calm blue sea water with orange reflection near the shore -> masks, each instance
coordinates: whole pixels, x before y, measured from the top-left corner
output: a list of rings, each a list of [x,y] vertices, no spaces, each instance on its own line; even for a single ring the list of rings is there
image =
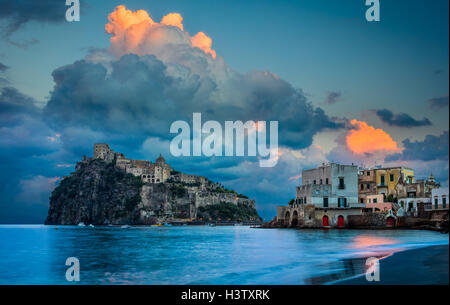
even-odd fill
[[[80,261],[80,284],[304,284],[346,274],[348,258],[449,239],[400,230],[0,225],[0,242],[0,284],[71,284],[68,257]]]

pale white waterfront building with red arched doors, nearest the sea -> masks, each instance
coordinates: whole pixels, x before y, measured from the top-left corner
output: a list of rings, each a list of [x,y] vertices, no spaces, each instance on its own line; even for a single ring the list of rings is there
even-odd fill
[[[347,216],[360,215],[358,168],[355,165],[323,164],[302,171],[296,199],[277,208],[277,219],[286,225],[344,227]]]

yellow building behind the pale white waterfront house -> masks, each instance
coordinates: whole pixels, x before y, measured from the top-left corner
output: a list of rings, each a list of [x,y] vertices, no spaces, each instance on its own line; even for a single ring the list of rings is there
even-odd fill
[[[396,187],[401,182],[415,182],[414,170],[406,167],[389,167],[376,169],[377,194],[386,196],[396,194]]]

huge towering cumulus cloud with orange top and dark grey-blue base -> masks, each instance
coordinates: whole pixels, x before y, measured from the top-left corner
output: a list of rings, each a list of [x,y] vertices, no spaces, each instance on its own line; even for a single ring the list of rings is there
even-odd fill
[[[191,121],[193,112],[203,121],[277,120],[281,145],[292,148],[311,145],[321,130],[343,127],[290,83],[268,71],[237,73],[195,47],[181,28],[177,14],[157,23],[145,11],[117,7],[106,31],[109,52],[118,57],[94,51],[56,69],[47,122],[55,129],[86,126],[168,139],[170,124]]]

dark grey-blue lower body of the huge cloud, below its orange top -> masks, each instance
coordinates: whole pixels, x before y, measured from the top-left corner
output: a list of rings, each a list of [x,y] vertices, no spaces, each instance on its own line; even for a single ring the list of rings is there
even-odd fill
[[[44,116],[56,130],[86,126],[168,139],[172,122],[190,121],[193,112],[201,112],[203,122],[277,120],[280,143],[304,148],[317,132],[342,127],[300,90],[267,72],[232,74],[219,82],[184,66],[167,66],[153,55],[125,55],[107,66],[77,61],[55,70],[53,78]]]

